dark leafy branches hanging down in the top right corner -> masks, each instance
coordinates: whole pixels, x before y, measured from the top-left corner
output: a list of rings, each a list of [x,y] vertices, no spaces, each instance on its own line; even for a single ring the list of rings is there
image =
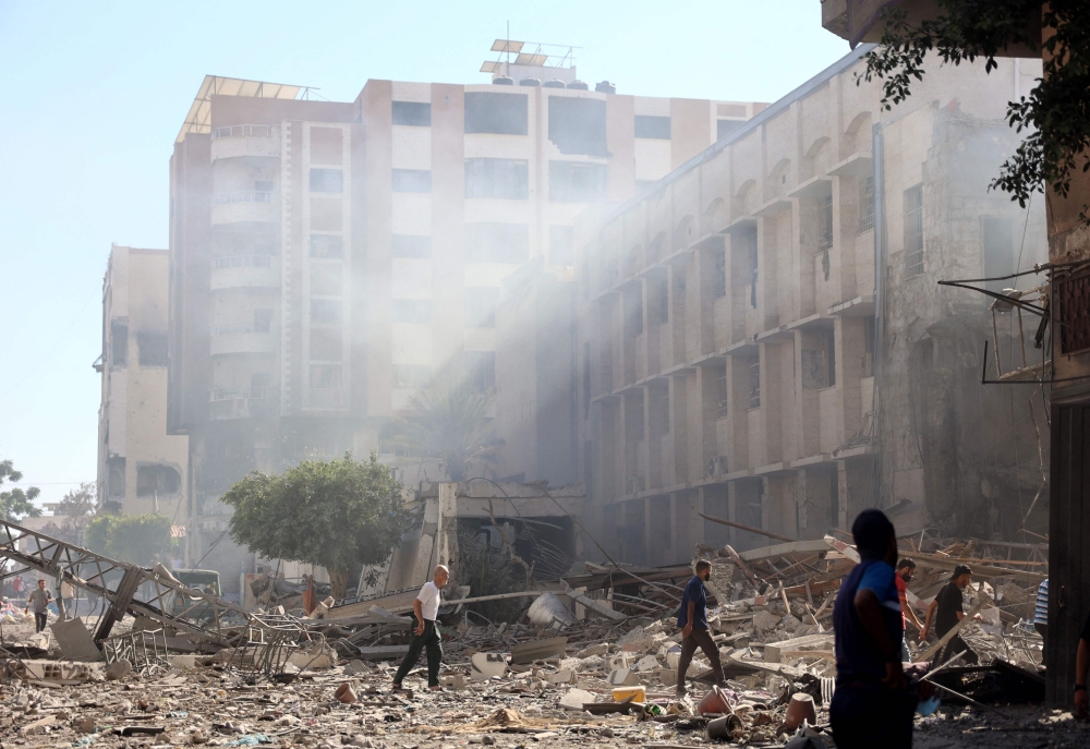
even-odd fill
[[[983,58],[991,72],[996,56],[1012,45],[1043,50],[1044,77],[1029,96],[1007,105],[1007,122],[1028,134],[991,186],[1010,193],[1022,207],[1045,183],[1066,196],[1079,165],[1090,170],[1090,3],[1053,0],[1043,12],[1039,0],[936,3],[937,15],[919,26],[907,22],[904,10],[886,11],[882,45],[867,55],[860,80],[882,78],[882,104],[889,109],[911,95],[913,80],[923,80],[931,52],[955,65]],[[1041,36],[1033,31],[1037,19]]]

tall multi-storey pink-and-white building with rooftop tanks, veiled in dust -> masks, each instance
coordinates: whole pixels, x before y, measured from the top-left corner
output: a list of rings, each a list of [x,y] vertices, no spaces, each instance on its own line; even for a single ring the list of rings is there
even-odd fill
[[[171,158],[167,431],[190,438],[191,551],[229,592],[255,563],[222,533],[232,483],[382,447],[440,372],[501,390],[502,279],[532,258],[570,268],[579,213],[762,108],[591,90],[529,62],[481,85],[368,81],[352,102],[202,84]]]

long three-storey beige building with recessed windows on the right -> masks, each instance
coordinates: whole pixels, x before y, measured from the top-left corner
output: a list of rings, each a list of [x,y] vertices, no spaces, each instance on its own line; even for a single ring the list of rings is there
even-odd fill
[[[1004,372],[1041,351],[1019,348],[1017,311],[937,281],[1047,257],[1040,203],[988,191],[1017,145],[1005,105],[1040,68],[935,69],[884,111],[857,85],[869,48],[577,225],[576,452],[616,558],[770,543],[701,512],[811,539],[879,506],[900,532],[1025,540],[1044,414],[981,373],[996,342]],[[528,271],[511,318],[561,281]]]

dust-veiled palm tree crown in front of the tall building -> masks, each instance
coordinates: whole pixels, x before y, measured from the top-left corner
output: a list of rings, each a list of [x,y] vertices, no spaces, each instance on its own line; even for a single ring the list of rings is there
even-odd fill
[[[494,395],[464,378],[436,377],[409,399],[414,413],[392,424],[392,443],[414,455],[438,458],[451,481],[465,481],[474,466],[495,467],[504,444],[489,415]]]

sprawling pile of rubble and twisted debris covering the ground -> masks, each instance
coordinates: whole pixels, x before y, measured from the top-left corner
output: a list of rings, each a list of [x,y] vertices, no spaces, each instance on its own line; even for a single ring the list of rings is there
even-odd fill
[[[610,561],[579,563],[536,590],[473,597],[468,587],[455,589],[440,609],[447,691],[407,698],[389,686],[408,650],[404,614],[416,589],[326,599],[308,613],[281,605],[246,612],[186,588],[161,566],[144,569],[0,523],[0,557],[105,601],[94,631],[80,618],[51,625],[56,647],[40,636],[4,640],[8,686],[0,689],[9,708],[0,711],[0,736],[166,734],[156,742],[253,746],[328,744],[339,734],[340,744],[363,747],[407,733],[419,735],[411,746],[449,735],[495,744],[496,733],[659,747],[691,746],[702,734],[746,742],[820,737],[835,689],[833,603],[859,558],[831,535],[774,540],[782,543],[698,549],[698,558],[713,560],[708,624],[725,687],[713,687],[710,664],[698,655],[688,676],[704,688],[683,699],[675,693],[676,612],[691,566]],[[930,678],[961,704],[1039,700],[1041,639],[1027,623],[1046,548],[921,536],[903,553],[919,566],[909,597],[921,614],[956,565],[970,564],[977,580],[966,591],[970,616],[955,632],[984,665],[942,664]],[[1016,554],[1025,558],[1012,559]],[[269,591],[277,581],[255,584]],[[522,619],[476,625],[465,613],[505,597],[526,601]],[[973,620],[978,613],[982,621]],[[913,645],[913,661],[930,661],[950,637]],[[65,686],[97,694],[68,697],[58,691]],[[410,746],[404,736],[397,740]]]

